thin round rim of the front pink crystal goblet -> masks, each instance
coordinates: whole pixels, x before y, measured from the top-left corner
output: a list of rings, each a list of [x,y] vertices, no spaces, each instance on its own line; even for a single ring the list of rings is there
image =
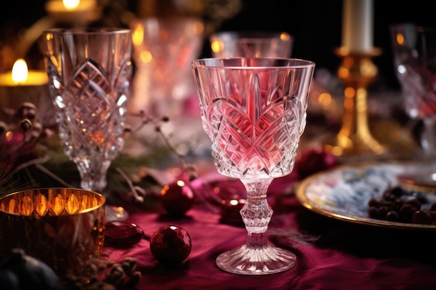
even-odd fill
[[[242,65],[222,65],[223,61],[237,61],[246,59],[247,61],[281,61],[283,63],[291,62],[293,64],[288,65],[254,65],[254,66],[242,66]],[[210,64],[205,64],[202,62],[214,62]],[[302,58],[279,58],[279,57],[230,57],[230,58],[198,58],[191,62],[192,67],[208,67],[208,68],[219,68],[219,69],[238,69],[238,70],[262,70],[265,68],[305,68],[305,67],[315,67],[316,63],[313,61],[308,61]]]

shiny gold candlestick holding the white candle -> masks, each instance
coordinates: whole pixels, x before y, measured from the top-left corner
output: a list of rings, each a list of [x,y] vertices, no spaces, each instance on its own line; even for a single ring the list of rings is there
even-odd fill
[[[338,77],[345,84],[342,127],[334,140],[326,145],[336,156],[379,155],[386,152],[368,127],[367,88],[378,74],[372,58],[381,50],[369,53],[350,53],[341,47],[336,54],[342,58]]]

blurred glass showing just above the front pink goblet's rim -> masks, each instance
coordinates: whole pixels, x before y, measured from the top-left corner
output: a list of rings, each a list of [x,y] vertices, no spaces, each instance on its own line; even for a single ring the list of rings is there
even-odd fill
[[[289,58],[293,37],[284,31],[221,31],[209,37],[212,56]]]

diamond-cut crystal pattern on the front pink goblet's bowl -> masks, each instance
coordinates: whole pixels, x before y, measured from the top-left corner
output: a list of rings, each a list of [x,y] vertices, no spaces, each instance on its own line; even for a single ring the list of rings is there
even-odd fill
[[[252,79],[258,79],[256,76]],[[258,90],[260,86],[252,88]],[[207,122],[215,165],[231,177],[279,177],[290,173],[294,165],[305,115],[302,102],[293,96],[273,96],[254,91],[254,104],[221,97],[210,103]],[[276,99],[274,99],[276,98]],[[274,99],[273,102],[269,100]]]

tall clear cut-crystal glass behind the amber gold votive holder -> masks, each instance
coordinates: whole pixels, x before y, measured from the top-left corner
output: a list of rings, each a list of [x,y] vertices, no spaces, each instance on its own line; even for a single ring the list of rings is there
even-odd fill
[[[64,152],[77,165],[81,188],[101,192],[124,145],[131,31],[50,29],[42,44]]]

